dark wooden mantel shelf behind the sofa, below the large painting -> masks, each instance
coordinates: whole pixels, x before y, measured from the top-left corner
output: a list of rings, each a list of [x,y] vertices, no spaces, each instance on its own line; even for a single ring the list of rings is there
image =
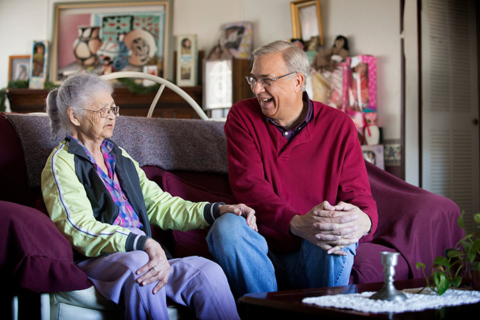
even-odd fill
[[[200,106],[202,105],[202,86],[183,87]],[[148,109],[157,92],[140,95],[131,93],[128,88],[115,87],[113,99],[120,106],[121,115],[147,116]],[[10,109],[17,113],[45,111],[48,91],[42,89],[8,89],[7,97]],[[165,88],[153,115],[154,118],[200,118],[193,108],[177,93]]]

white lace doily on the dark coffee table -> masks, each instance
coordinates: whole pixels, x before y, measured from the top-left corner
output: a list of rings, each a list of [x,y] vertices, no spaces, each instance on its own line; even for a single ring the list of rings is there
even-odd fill
[[[337,294],[334,296],[318,296],[303,298],[303,303],[320,307],[337,307],[352,309],[360,312],[413,312],[426,309],[437,309],[454,305],[478,303],[480,291],[448,289],[445,294],[438,296],[431,289],[426,288],[417,294],[421,288],[401,290],[408,298],[406,301],[382,301],[369,299],[376,292],[362,292],[361,294]]]

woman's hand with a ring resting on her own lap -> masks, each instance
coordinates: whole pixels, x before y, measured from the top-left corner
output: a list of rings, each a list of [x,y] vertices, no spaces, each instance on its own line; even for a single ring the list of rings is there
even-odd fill
[[[137,282],[145,286],[158,281],[159,283],[153,288],[153,294],[157,294],[168,282],[168,276],[171,272],[170,264],[160,243],[154,239],[147,239],[145,252],[150,257],[150,261],[136,271],[136,274],[142,275],[137,279]]]

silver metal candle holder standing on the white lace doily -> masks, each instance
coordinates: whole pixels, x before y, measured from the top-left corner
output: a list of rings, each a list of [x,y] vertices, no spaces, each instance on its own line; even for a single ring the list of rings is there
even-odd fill
[[[407,296],[402,291],[397,290],[393,284],[393,276],[395,275],[395,266],[399,262],[399,253],[381,252],[383,275],[385,275],[385,283],[376,294],[371,296],[374,300],[386,301],[403,301]]]

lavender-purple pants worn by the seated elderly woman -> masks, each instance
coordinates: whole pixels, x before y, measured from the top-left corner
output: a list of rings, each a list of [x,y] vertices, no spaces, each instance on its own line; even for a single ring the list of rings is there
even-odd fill
[[[125,319],[168,319],[167,298],[186,305],[198,319],[239,319],[227,278],[218,264],[202,257],[169,260],[172,272],[157,294],[143,287],[136,271],[150,260],[144,251],[113,253],[79,262],[102,296],[125,310]]]

